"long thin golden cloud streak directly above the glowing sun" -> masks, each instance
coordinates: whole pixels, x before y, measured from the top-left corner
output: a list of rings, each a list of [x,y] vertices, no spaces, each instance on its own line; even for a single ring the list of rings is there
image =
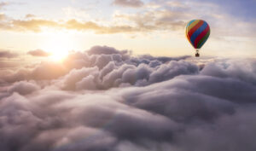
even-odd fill
[[[97,34],[113,34],[113,33],[129,33],[141,31],[138,27],[129,25],[120,26],[102,26],[99,23],[92,21],[67,20],[4,20],[0,26],[2,29],[15,32],[42,32],[45,27],[54,29],[68,29],[77,31],[93,31]]]

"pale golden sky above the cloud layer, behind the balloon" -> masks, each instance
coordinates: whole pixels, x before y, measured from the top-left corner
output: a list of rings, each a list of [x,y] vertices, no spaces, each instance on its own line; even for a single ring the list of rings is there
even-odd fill
[[[211,27],[203,55],[253,57],[255,7],[254,0],[2,1],[0,49],[60,55],[107,45],[134,55],[193,55],[184,28],[202,19]]]

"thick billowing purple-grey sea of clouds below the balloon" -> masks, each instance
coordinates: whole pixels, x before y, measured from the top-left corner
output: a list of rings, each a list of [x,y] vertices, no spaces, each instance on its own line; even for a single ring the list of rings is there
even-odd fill
[[[253,59],[95,46],[0,73],[1,151],[256,150]]]

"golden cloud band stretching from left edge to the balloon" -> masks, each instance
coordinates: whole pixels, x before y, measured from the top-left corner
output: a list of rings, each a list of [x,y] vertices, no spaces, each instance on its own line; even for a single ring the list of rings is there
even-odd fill
[[[28,14],[28,16],[31,15]],[[188,16],[188,14],[171,9],[146,9],[145,11],[140,11],[135,14],[115,13],[113,14],[113,20],[109,20],[108,24],[102,24],[100,20],[88,21],[73,19],[63,21],[26,17],[26,20],[5,18],[0,25],[4,30],[15,32],[42,32],[45,27],[48,27],[82,32],[92,31],[97,34],[137,33],[181,30],[183,26],[185,26],[184,20],[186,16]]]

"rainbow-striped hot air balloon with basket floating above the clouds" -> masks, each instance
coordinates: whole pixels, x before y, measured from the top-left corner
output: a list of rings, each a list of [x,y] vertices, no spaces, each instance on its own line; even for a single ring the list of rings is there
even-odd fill
[[[199,57],[199,49],[210,36],[210,26],[205,20],[191,20],[186,26],[186,36],[189,43],[195,48],[195,56]]]

